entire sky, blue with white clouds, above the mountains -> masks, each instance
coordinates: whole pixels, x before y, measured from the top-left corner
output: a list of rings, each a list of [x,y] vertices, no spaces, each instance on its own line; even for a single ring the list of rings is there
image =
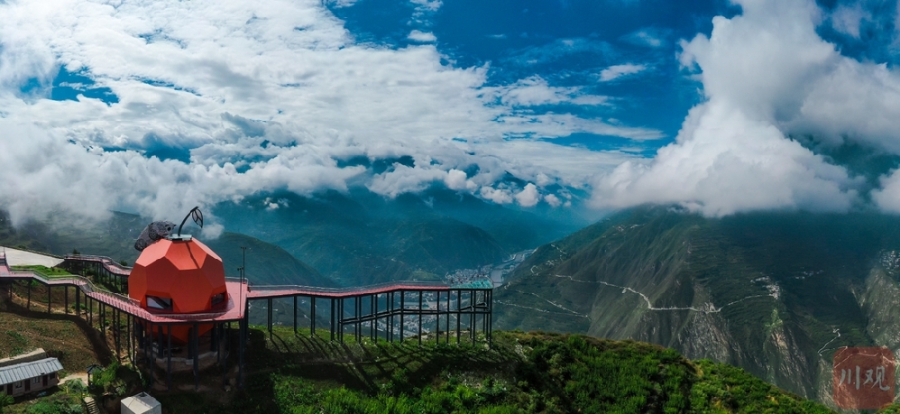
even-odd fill
[[[48,0],[0,19],[14,217],[435,185],[526,209],[900,211],[893,0]],[[68,201],[88,190],[105,197]]]

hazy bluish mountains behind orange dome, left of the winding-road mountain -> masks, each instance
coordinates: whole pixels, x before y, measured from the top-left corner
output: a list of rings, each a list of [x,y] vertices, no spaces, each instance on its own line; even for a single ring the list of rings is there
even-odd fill
[[[14,228],[0,212],[0,244],[57,254],[78,250],[133,263],[134,240],[151,221],[120,212],[100,222],[63,213]],[[185,233],[218,252],[227,275],[237,274],[244,246],[246,273],[254,282],[359,286],[438,280],[457,269],[500,262],[584,223],[580,216],[538,216],[446,189],[397,198],[351,190],[223,202],[207,211],[207,225],[225,228],[220,237],[200,233],[189,221]]]

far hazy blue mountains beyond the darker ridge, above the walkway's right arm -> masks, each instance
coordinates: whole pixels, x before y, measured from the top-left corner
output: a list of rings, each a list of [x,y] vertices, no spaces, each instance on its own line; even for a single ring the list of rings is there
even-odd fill
[[[215,211],[229,230],[278,244],[344,285],[436,279],[447,271],[499,262],[531,240],[532,246],[547,240],[529,235],[504,245],[479,226],[437,211],[440,205],[435,198],[328,192],[223,203]],[[530,228],[496,221],[495,227]]]

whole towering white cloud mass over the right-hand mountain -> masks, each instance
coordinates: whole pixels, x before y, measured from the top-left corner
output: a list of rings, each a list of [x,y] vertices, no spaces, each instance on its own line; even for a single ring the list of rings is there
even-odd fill
[[[707,216],[842,212],[863,202],[864,179],[813,150],[853,143],[900,154],[895,69],[842,56],[823,41],[813,1],[735,3],[742,14],[714,18],[710,37],[682,41],[679,59],[702,81],[705,101],[652,161],[626,161],[596,179],[595,207],[674,203]],[[856,14],[838,18],[853,32]],[[799,135],[812,137],[812,145],[791,139]],[[900,212],[896,175],[872,192],[886,211]]]

